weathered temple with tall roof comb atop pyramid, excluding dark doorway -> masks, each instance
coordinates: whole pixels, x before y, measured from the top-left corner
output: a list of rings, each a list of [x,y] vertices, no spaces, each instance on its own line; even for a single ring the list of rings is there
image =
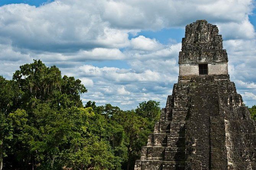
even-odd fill
[[[198,64],[208,64],[208,74],[228,74],[228,56],[218,28],[205,20],[186,26],[179,52],[179,75],[199,75]]]

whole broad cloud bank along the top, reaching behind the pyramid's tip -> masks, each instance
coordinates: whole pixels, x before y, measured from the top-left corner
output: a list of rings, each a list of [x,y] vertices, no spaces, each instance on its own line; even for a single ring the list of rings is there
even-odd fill
[[[17,47],[38,51],[123,48],[129,32],[184,27],[207,19],[254,36],[248,22],[251,0],[55,0],[39,7],[10,4],[0,7],[0,37]],[[177,10],[179,9],[179,10]],[[230,36],[228,34],[227,36]],[[235,35],[240,37],[240,35]]]

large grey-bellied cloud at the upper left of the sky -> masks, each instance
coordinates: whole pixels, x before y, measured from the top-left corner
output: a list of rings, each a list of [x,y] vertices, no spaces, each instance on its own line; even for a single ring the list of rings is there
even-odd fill
[[[20,48],[38,51],[126,46],[127,32],[109,28],[99,10],[95,1],[57,0],[37,8],[5,5],[0,7],[0,36]]]

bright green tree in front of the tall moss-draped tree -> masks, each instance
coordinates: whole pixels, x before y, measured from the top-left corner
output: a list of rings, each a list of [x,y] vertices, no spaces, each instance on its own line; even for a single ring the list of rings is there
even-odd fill
[[[67,112],[52,109],[49,104],[39,104],[33,111],[33,128],[36,134],[29,141],[31,152],[37,156],[42,165],[49,165],[54,168],[56,158],[60,154],[62,145],[67,143],[71,132]],[[41,158],[41,159],[40,159]]]

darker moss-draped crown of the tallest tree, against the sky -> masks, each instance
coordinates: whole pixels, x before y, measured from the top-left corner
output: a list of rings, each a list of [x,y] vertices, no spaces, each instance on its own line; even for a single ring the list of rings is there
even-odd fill
[[[79,79],[66,75],[61,78],[56,66],[46,67],[41,60],[20,66],[20,70],[13,74],[13,80],[23,92],[18,106],[23,108],[32,109],[38,102],[51,100],[55,106],[82,107],[80,93],[87,92]]]

